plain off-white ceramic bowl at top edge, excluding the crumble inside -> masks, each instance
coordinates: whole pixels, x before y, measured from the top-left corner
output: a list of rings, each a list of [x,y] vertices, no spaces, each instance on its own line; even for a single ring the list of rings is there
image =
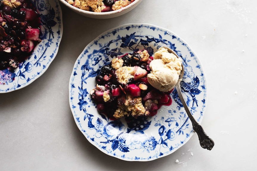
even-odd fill
[[[61,1],[64,5],[66,5],[68,8],[71,10],[77,12],[80,15],[84,15],[89,18],[96,18],[96,19],[107,19],[107,18],[114,18],[118,17],[120,15],[126,14],[127,12],[133,10],[142,0],[135,0],[133,3],[129,4],[128,6],[121,8],[119,10],[115,11],[110,11],[110,12],[90,12],[90,11],[85,11],[81,10],[79,8],[76,8],[69,3],[66,2],[66,0],[59,0]]]

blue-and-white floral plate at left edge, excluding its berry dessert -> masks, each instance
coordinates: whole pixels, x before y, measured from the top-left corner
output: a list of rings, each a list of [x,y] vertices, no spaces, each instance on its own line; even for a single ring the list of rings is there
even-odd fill
[[[63,34],[58,0],[32,0],[41,18],[42,40],[15,70],[0,70],[0,93],[21,89],[39,78],[55,58]]]

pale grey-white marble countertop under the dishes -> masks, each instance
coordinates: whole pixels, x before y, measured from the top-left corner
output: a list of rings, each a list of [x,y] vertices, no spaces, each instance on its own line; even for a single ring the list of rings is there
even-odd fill
[[[0,170],[256,169],[257,1],[144,0],[106,20],[60,6],[64,32],[48,70],[27,87],[0,94]],[[208,96],[201,125],[215,142],[211,151],[194,134],[168,156],[129,162],[102,153],[78,129],[68,99],[73,65],[99,34],[126,23],[169,29],[201,60]]]

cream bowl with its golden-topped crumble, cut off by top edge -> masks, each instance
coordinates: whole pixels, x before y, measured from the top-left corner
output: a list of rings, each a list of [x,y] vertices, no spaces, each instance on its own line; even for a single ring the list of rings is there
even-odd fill
[[[126,14],[142,0],[60,0],[71,10],[89,18],[107,19]]]

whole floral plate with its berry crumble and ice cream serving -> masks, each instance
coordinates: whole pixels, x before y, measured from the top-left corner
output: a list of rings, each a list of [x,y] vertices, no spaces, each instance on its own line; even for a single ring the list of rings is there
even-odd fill
[[[176,88],[170,85],[174,79],[163,81],[169,79],[166,69],[173,57],[164,55],[161,46],[180,57],[182,93],[201,123],[207,102],[206,78],[190,46],[168,29],[122,25],[85,47],[69,83],[75,123],[102,152],[126,161],[150,161],[173,153],[192,137],[191,122]],[[177,69],[171,73],[179,74],[179,62],[172,65]],[[166,74],[160,79],[157,75],[162,72]]]

